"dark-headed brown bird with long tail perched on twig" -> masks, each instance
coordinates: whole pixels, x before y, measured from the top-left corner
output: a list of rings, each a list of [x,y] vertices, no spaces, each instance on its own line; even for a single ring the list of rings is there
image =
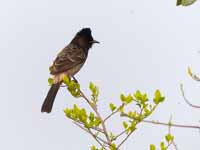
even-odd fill
[[[93,44],[99,43],[93,39],[91,32],[90,28],[82,28],[72,41],[57,54],[52,66],[49,67],[50,74],[53,76],[53,84],[42,104],[41,112],[50,113],[52,111],[63,78],[65,76],[74,77],[84,65],[89,49]]]

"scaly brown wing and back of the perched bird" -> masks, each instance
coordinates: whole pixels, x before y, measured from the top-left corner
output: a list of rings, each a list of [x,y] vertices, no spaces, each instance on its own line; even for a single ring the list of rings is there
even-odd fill
[[[86,58],[87,55],[82,48],[69,44],[57,55],[53,65],[50,67],[50,73],[56,75],[66,72],[77,65],[83,64]]]

